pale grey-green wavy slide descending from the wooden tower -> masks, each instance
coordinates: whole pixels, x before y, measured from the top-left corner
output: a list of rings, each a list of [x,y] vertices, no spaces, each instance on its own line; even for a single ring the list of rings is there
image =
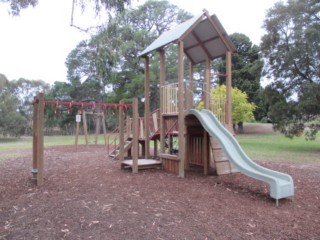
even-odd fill
[[[276,200],[294,195],[292,177],[288,174],[262,167],[253,162],[242,150],[237,140],[209,110],[189,110],[196,116],[210,136],[217,139],[229,160],[243,174],[270,185],[270,196]]]

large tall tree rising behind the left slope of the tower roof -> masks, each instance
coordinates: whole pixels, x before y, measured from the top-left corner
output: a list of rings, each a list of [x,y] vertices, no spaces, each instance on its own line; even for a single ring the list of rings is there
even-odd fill
[[[90,40],[81,42],[68,56],[68,80],[78,89],[95,86],[92,93],[107,102],[119,102],[133,96],[144,97],[144,67],[138,58],[155,38],[191,15],[168,1],[147,1],[136,9],[123,12]],[[155,62],[157,62],[154,57]],[[158,64],[150,73],[151,106],[158,103],[156,77]],[[106,92],[109,87],[112,91]],[[92,90],[93,88],[91,88]],[[83,91],[86,94],[89,92]]]

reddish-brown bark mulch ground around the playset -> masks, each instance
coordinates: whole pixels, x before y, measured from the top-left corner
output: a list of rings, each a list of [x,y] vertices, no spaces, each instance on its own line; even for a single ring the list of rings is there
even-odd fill
[[[46,148],[41,187],[31,163],[31,152],[0,162],[1,240],[320,239],[317,163],[259,162],[294,179],[294,199],[279,207],[266,184],[240,173],[132,174],[104,146]]]

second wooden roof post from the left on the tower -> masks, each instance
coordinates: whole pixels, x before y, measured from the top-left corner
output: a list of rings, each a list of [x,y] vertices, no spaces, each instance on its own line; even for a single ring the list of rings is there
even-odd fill
[[[165,67],[165,51],[161,49],[159,51],[160,54],[160,153],[165,153],[165,127],[164,127],[164,99],[163,99],[163,92],[164,92],[164,84],[166,79],[166,67]]]

